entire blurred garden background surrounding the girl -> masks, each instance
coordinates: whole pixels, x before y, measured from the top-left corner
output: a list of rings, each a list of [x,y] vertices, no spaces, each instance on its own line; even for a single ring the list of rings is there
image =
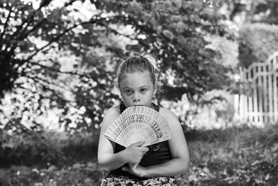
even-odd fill
[[[179,185],[278,182],[278,1],[0,0],[0,185],[99,185],[116,68],[156,56],[190,150]]]

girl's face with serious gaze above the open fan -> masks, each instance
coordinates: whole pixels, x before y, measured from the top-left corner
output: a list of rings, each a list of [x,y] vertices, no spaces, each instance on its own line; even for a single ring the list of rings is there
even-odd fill
[[[156,88],[151,81],[149,71],[128,73],[120,81],[119,86],[126,107],[135,105],[151,107]]]

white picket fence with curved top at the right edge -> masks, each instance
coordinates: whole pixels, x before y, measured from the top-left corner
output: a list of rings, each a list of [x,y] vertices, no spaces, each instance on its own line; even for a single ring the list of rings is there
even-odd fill
[[[235,97],[236,116],[242,122],[274,123],[278,121],[278,52],[266,63],[252,63],[240,70],[240,95]]]

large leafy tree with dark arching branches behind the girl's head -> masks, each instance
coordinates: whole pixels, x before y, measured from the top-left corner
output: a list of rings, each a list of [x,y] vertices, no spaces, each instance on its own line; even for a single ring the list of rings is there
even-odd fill
[[[99,124],[118,99],[111,93],[115,73],[109,66],[115,67],[130,49],[157,56],[165,90],[161,98],[202,94],[229,80],[228,69],[215,62],[217,52],[206,47],[204,36],[231,35],[206,1],[57,2],[44,0],[34,8],[31,1],[0,1],[0,97],[9,91],[30,94],[22,112],[38,102],[33,109],[42,114],[49,100],[49,107],[60,110],[59,123],[94,130],[92,123]],[[126,26],[131,26],[129,33],[121,29]],[[119,37],[129,44],[117,45]],[[63,70],[62,54],[76,58],[71,70]],[[170,76],[174,82],[167,80]],[[74,121],[72,107],[82,110]]]

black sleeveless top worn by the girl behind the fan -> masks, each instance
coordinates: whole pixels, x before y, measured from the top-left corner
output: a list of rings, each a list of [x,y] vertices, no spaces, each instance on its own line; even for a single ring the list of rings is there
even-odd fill
[[[120,113],[122,113],[124,109],[126,109],[124,104],[120,104]],[[156,104],[154,104],[154,109],[159,112],[159,107]],[[162,141],[158,144],[153,144],[152,146],[147,146],[147,147],[149,148],[149,151],[142,157],[139,163],[141,166],[151,166],[155,164],[161,164],[172,159],[168,141]],[[119,153],[124,149],[125,149],[124,146],[115,144],[114,153]],[[124,164],[123,166],[128,166],[128,165]],[[122,171],[122,166],[108,173],[108,177],[117,177],[117,176],[127,176],[129,178],[142,179],[127,171]]]

